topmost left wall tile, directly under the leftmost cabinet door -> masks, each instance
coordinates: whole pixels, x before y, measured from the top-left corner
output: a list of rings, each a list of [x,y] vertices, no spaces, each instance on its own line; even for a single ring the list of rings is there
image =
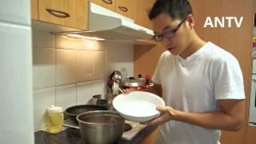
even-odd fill
[[[54,34],[42,30],[32,30],[33,47],[54,48]]]

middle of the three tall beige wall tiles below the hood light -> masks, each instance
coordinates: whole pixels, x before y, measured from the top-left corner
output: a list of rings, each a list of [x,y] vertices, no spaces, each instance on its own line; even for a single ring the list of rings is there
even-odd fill
[[[77,83],[92,79],[93,54],[93,51],[77,50]]]

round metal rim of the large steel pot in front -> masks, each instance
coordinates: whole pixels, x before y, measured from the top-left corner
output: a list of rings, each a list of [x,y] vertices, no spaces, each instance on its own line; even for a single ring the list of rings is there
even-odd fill
[[[84,114],[89,114],[88,117],[90,117],[90,114],[95,114],[95,115],[103,114],[103,115],[107,115],[107,116],[114,116],[114,117],[120,118],[120,120],[118,120],[116,122],[106,122],[106,123],[84,122],[84,121],[79,119]],[[110,111],[110,110],[88,111],[88,112],[85,112],[85,113],[78,114],[76,119],[77,119],[77,121],[79,123],[86,124],[87,126],[95,126],[95,125],[97,125],[98,127],[100,127],[100,126],[110,126],[110,125],[114,126],[114,125],[118,125],[119,123],[124,123],[125,122],[125,118],[122,118],[122,116],[117,111]]]

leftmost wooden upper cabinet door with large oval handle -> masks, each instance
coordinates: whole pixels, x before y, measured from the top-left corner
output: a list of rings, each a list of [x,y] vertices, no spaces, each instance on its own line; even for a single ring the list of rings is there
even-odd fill
[[[88,2],[86,0],[38,0],[39,20],[87,29]]]

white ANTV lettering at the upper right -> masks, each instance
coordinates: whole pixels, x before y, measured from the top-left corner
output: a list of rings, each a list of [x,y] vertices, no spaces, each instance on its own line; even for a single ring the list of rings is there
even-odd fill
[[[214,17],[214,21],[212,21],[212,19],[210,17],[206,18],[206,22],[205,25],[203,27],[231,27],[232,23],[235,24],[235,26],[237,27],[241,27],[242,26],[242,20],[243,17],[238,18],[237,17],[222,17],[222,18],[218,18],[218,17]]]

